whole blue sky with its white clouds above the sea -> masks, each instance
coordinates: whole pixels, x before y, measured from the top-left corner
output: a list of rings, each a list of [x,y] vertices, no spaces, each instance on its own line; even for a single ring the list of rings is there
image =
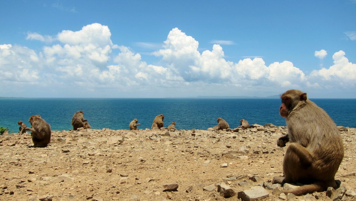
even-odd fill
[[[356,98],[356,1],[0,1],[0,96]]]

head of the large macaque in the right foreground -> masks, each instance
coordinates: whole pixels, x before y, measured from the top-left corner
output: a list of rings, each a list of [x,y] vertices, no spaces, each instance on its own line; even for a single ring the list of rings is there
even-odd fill
[[[282,104],[279,113],[286,118],[290,112],[307,101],[307,93],[299,90],[288,90],[281,95]]]

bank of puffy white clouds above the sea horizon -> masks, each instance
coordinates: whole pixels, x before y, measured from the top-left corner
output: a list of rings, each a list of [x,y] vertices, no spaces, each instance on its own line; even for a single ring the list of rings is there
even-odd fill
[[[20,45],[0,45],[0,91],[7,96],[24,96],[26,91],[34,92],[26,97],[182,97],[248,92],[263,96],[291,88],[354,89],[356,83],[356,64],[349,62],[343,51],[334,53],[334,64],[329,68],[306,75],[290,61],[266,65],[255,57],[231,62],[224,58],[221,41],[200,53],[199,42],[178,28],[169,31],[163,46],[156,46],[159,50],[152,55],[159,61],[154,64],[147,64],[130,47],[114,44],[109,27],[99,23],[79,31],[63,30],[56,36],[28,32],[26,38],[47,45],[38,52]],[[151,47],[153,43],[140,44]],[[113,49],[119,53],[112,53]],[[327,53],[322,49],[314,55],[322,59]]]

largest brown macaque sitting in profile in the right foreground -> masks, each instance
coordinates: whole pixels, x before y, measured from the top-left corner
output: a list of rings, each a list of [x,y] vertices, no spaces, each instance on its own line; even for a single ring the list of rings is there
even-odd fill
[[[339,130],[328,114],[307,98],[307,93],[288,90],[281,95],[279,113],[286,118],[288,134],[280,137],[277,146],[290,142],[283,159],[284,177],[272,183],[307,184],[284,191],[303,195],[336,189],[335,173],[344,157]]]

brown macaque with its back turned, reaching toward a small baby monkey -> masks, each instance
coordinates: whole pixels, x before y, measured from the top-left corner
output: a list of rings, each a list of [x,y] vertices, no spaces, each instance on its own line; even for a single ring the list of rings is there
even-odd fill
[[[40,115],[33,115],[28,121],[32,125],[32,128],[25,128],[26,131],[32,132],[33,146],[30,147],[47,147],[51,141],[51,126]]]

